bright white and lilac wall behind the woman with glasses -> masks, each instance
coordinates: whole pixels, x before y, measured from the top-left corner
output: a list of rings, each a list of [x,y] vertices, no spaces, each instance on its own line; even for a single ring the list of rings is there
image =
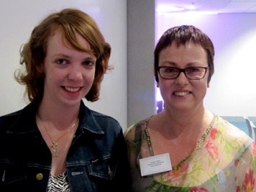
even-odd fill
[[[166,29],[193,24],[214,42],[215,72],[204,104],[221,116],[256,116],[256,14],[157,16],[156,39]]]

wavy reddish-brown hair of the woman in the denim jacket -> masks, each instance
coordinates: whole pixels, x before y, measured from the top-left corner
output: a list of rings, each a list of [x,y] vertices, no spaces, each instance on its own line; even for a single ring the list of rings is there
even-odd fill
[[[25,71],[17,70],[14,74],[15,79],[26,86],[29,101],[42,100],[45,74],[40,70],[40,65],[45,60],[47,40],[57,29],[63,32],[65,40],[70,46],[76,50],[90,51],[97,58],[93,85],[85,96],[88,101],[97,101],[104,73],[110,69],[111,46],[105,42],[96,22],[88,14],[78,9],[63,9],[50,14],[33,29],[29,41],[21,48],[20,64],[25,64]],[[81,47],[76,33],[88,41],[91,50],[84,50]]]

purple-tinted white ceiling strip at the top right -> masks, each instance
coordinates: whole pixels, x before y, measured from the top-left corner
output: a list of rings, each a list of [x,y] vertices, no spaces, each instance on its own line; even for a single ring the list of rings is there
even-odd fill
[[[256,0],[156,0],[157,13],[209,12],[252,13],[256,12]]]

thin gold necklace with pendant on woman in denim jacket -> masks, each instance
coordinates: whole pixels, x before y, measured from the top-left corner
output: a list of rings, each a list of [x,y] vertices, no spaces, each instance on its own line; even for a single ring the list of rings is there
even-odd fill
[[[38,118],[40,119],[40,121],[42,122],[41,116],[38,115]],[[65,133],[63,133],[57,140],[55,140],[55,142],[52,140],[52,137],[50,137],[50,133],[48,132],[48,130],[45,127],[45,124],[42,122],[42,126],[45,128],[45,131],[47,132],[48,137],[50,138],[50,140],[52,141],[52,145],[50,145],[50,152],[52,153],[52,157],[58,157],[59,156],[59,146],[58,146],[58,140],[60,140],[65,134],[67,134],[68,132],[70,132],[70,130],[75,127],[76,122],[78,121],[78,119],[75,120],[75,122],[73,122],[70,125],[70,128],[68,129],[68,131],[66,131]]]

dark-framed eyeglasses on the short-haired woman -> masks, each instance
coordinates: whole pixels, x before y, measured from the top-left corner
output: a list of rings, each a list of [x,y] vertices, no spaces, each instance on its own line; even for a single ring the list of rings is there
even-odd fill
[[[206,76],[206,72],[209,67],[191,67],[191,68],[172,68],[166,66],[157,67],[157,71],[161,78],[165,79],[175,79],[180,76],[180,73],[183,72],[186,78],[191,80],[198,80]]]

